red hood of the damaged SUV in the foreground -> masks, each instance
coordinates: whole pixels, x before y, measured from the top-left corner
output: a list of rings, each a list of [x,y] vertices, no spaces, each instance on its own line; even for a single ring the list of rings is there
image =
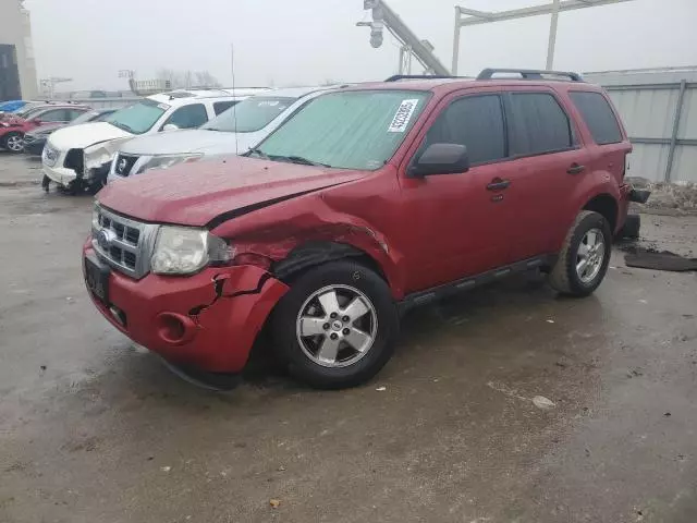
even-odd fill
[[[120,180],[107,185],[98,200],[139,220],[203,227],[224,212],[358,180],[368,173],[233,156]]]

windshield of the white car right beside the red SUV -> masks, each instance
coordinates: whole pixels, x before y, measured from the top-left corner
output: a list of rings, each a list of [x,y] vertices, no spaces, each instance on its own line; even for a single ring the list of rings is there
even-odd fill
[[[271,120],[291,107],[295,98],[255,96],[232,106],[200,129],[227,133],[253,133],[266,127]]]

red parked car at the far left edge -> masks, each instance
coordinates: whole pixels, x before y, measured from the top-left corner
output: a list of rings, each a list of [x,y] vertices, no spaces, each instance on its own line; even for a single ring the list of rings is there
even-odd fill
[[[24,112],[24,118],[5,118],[0,121],[0,147],[10,153],[22,153],[27,132],[46,123],[69,123],[88,110],[87,106],[74,104],[45,104]]]

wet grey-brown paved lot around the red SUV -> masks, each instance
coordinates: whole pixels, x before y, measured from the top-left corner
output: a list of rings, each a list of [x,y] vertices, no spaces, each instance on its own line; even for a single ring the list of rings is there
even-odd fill
[[[583,301],[527,277],[414,311],[365,387],[211,393],[94,311],[90,198],[33,180],[0,154],[0,522],[697,521],[694,273],[616,251]],[[645,222],[697,252],[697,218]]]

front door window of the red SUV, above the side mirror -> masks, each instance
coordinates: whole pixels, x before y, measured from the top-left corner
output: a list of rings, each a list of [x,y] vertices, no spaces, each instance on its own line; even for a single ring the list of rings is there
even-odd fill
[[[467,96],[453,101],[426,135],[426,145],[443,143],[467,147],[472,165],[506,158],[505,122],[499,95]]]

